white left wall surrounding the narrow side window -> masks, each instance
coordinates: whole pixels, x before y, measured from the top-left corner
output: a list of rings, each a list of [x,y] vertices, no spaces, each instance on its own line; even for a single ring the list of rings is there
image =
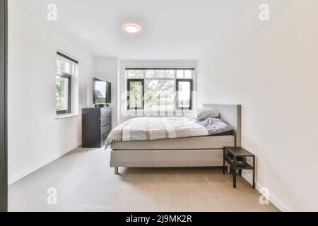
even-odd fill
[[[87,84],[95,62],[42,20],[8,2],[8,177],[14,182],[81,144],[81,116],[55,119],[57,49],[79,60],[79,109],[92,102]]]

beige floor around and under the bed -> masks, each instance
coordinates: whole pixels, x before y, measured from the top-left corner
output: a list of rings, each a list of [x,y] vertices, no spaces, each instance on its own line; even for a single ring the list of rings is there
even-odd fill
[[[278,211],[242,177],[213,168],[109,167],[110,152],[77,148],[9,186],[10,211]],[[57,205],[47,189],[57,189]]]

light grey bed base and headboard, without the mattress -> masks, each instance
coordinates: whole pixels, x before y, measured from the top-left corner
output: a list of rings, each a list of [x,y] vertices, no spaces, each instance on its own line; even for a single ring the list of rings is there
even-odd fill
[[[241,145],[241,106],[204,104],[220,112],[220,119],[233,127],[235,146]],[[130,161],[133,159],[133,161]],[[220,167],[223,147],[196,150],[111,150],[110,167]]]

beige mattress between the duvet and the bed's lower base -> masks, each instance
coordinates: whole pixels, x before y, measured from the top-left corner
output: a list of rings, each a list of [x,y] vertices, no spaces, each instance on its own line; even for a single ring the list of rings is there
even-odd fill
[[[112,150],[196,150],[235,146],[235,136],[196,136],[153,141],[114,141]]]

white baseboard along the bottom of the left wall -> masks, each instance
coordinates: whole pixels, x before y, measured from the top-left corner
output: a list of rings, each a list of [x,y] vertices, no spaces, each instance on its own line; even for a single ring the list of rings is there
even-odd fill
[[[65,155],[66,153],[69,153],[71,150],[74,150],[75,148],[78,148],[81,145],[82,145],[81,142],[77,143],[76,145],[73,145],[71,148],[67,148],[62,153],[59,153],[58,155],[54,155],[52,157],[49,157],[47,160],[40,162],[39,164],[37,164],[33,167],[25,169],[23,172],[20,172],[16,175],[13,175],[12,177],[8,178],[8,185],[13,184],[14,182],[17,182],[19,179],[22,179],[23,177],[27,176],[28,174],[35,172],[35,170],[44,167],[45,165],[49,164],[49,162],[53,162],[54,160],[57,160],[59,157]]]

